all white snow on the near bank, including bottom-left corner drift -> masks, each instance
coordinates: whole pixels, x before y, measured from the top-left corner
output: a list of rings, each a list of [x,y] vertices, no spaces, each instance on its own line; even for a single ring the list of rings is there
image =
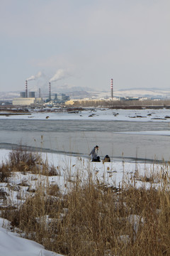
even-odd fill
[[[8,150],[0,150],[0,163],[8,159]],[[16,172],[11,177],[9,184],[11,186],[19,186],[18,184],[22,181],[28,183],[31,188],[38,186],[38,182],[45,186],[49,186],[51,183],[57,183],[60,186],[60,191],[65,193],[72,183],[68,180],[74,180],[79,176],[84,177],[84,180],[88,178],[89,174],[98,180],[101,184],[107,184],[108,186],[119,187],[126,183],[131,183],[132,186],[139,188],[140,186],[145,186],[149,188],[152,183],[140,181],[140,176],[150,176],[151,174],[159,174],[159,171],[164,168],[162,164],[144,164],[144,163],[130,163],[126,161],[113,161],[104,163],[101,162],[91,162],[91,159],[81,158],[79,156],[67,156],[62,154],[42,154],[43,159],[47,159],[49,163],[57,166],[60,173],[58,176],[40,176],[39,174],[21,174]],[[136,179],[134,176],[136,175]],[[138,180],[137,180],[138,177]],[[36,178],[36,181],[35,181]],[[37,180],[39,178],[39,181]],[[155,181],[156,183],[157,181]],[[36,183],[36,184],[35,184]],[[65,186],[67,184],[67,186]],[[159,181],[157,186],[159,186]],[[10,198],[10,203],[13,206],[23,203],[24,200],[20,202],[17,199],[18,191],[11,191],[4,183],[0,183],[0,188],[6,191]],[[21,186],[19,193],[22,194],[23,198],[26,198],[28,194],[28,186]],[[7,199],[8,200],[8,199]],[[1,204],[1,203],[0,203]],[[130,223],[134,223],[135,230],[137,231],[140,217],[130,215]],[[127,237],[121,237],[120,240],[127,240]],[[10,223],[8,220],[0,218],[0,256],[52,256],[56,255],[55,252],[50,252],[45,250],[42,245],[37,242],[19,238],[17,233],[13,233],[10,230]]]

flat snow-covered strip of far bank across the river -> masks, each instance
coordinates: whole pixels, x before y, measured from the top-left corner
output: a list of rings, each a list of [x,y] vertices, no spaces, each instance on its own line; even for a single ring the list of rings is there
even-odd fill
[[[55,110],[53,110],[55,111]],[[28,114],[0,114],[0,119],[52,119],[52,120],[113,120],[130,122],[170,122],[170,110],[108,110],[105,108],[94,108],[67,112],[56,110],[56,112],[31,111]]]

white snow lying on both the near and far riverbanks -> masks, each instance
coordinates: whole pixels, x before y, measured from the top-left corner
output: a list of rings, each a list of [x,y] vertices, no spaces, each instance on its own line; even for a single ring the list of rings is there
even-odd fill
[[[92,117],[89,115],[94,114]],[[31,115],[9,115],[0,116],[0,119],[92,119],[92,120],[123,120],[130,122],[169,122],[168,117],[170,114],[169,110],[84,110],[77,113],[68,113],[68,112],[33,112]],[[142,117],[140,117],[142,116]],[[128,132],[129,133],[129,132]],[[162,134],[170,135],[170,131],[156,131],[156,132],[139,132],[140,134]],[[136,132],[137,134],[137,132]],[[0,150],[0,164],[5,162],[8,159],[9,151],[6,149]],[[42,153],[42,159],[47,159],[50,164],[57,168],[59,173],[58,176],[40,176],[39,174],[22,174],[20,172],[14,173],[9,181],[11,186],[15,186],[16,190],[11,191],[5,183],[0,183],[0,189],[3,189],[8,193],[7,201],[11,203],[12,206],[16,206],[19,203],[23,203],[24,198],[29,194],[27,189],[34,188],[37,186],[38,181],[47,186],[47,184],[56,183],[60,187],[62,193],[66,193],[67,189],[72,186],[71,180],[77,178],[77,174],[83,178],[82,181],[85,181],[86,178],[91,175],[95,180],[98,180],[99,183],[106,184],[106,186],[113,186],[118,188],[119,186],[125,186],[125,184],[131,184],[136,188],[140,186],[145,186],[149,188],[152,186],[152,183],[143,181],[141,177],[158,177],[161,173],[161,170],[164,169],[164,164],[146,164],[146,163],[132,163],[124,161],[112,161],[111,163],[101,162],[91,162],[91,159],[82,158],[80,156],[67,156],[62,154],[44,154]],[[167,168],[167,166],[166,166]],[[38,178],[38,180],[37,180]],[[36,179],[36,181],[35,181]],[[28,186],[20,186],[21,195],[23,200],[18,199],[19,183],[25,182]],[[159,188],[160,180],[154,180],[155,187]],[[67,186],[66,186],[67,185]],[[0,201],[0,205],[3,203]],[[132,216],[130,217],[130,222],[135,221],[137,223],[138,216],[135,220]],[[141,221],[141,220],[140,220]],[[139,222],[139,221],[138,221]],[[137,229],[137,226],[135,226]],[[128,239],[128,238],[120,238]],[[56,255],[54,252],[45,250],[42,245],[39,245],[37,242],[19,238],[17,233],[13,233],[10,230],[10,223],[8,220],[0,218],[0,256],[52,256]]]

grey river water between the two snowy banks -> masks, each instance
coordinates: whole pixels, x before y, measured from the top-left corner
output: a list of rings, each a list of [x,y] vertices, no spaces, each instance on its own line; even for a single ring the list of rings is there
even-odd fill
[[[169,161],[170,136],[162,131],[170,131],[169,122],[0,119],[0,148],[88,156],[97,144],[101,159]]]

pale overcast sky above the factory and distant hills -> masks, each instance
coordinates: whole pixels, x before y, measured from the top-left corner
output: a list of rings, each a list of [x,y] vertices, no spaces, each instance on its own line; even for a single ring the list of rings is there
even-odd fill
[[[0,0],[0,91],[170,87],[169,0]]]

